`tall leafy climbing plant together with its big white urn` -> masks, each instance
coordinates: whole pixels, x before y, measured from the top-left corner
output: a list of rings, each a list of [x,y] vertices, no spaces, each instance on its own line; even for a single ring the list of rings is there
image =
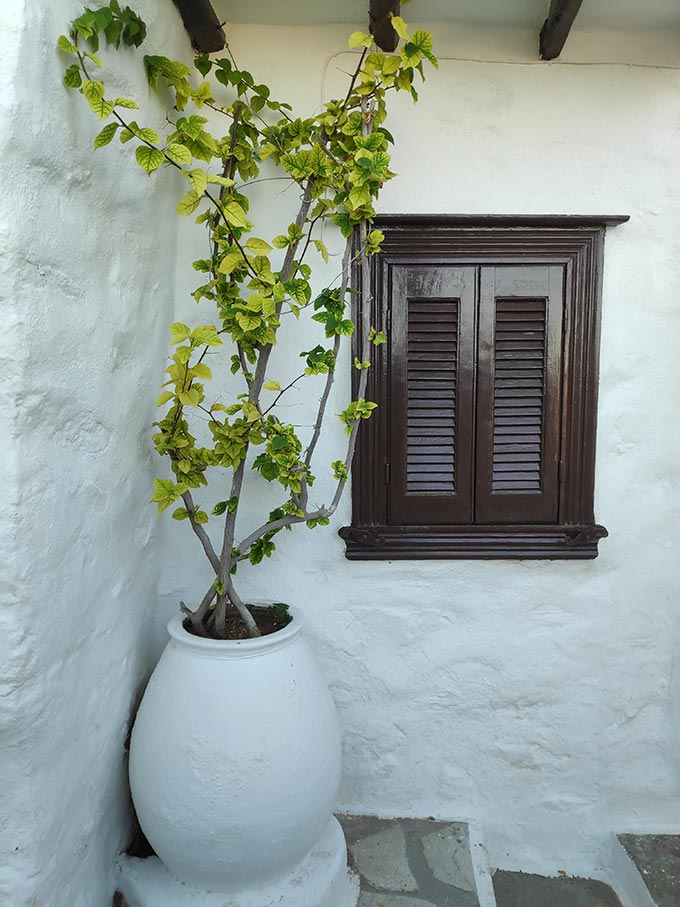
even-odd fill
[[[383,53],[370,35],[355,32],[349,46],[356,65],[344,95],[307,117],[276,100],[230,51],[221,59],[197,56],[195,78],[182,62],[147,55],[151,86],[168,87],[174,100],[162,137],[140,124],[135,101],[109,97],[99,76],[100,43],[143,42],[146,28],[136,13],[110,0],[86,10],[58,42],[69,57],[66,86],[80,91],[104,122],[95,148],[117,138],[148,174],[178,171],[187,185],[177,211],[194,215],[205,233],[205,257],[193,262],[201,275],[193,295],[209,314],[195,326],[170,327],[172,354],[153,435],[169,475],[156,480],[152,500],[161,512],[172,508],[194,533],[212,578],[196,603],[181,603],[170,621],[170,642],[133,731],[131,786],[140,824],[170,873],[230,892],[230,904],[284,903],[286,885],[299,880],[320,841],[337,866],[327,860],[309,883],[311,893],[298,885],[290,904],[325,903],[344,863],[331,812],[340,771],[332,701],[300,635],[298,612],[244,602],[237,571],[270,557],[283,530],[329,523],[359,426],[375,406],[364,396],[370,350],[386,338],[363,323],[355,393],[339,414],[347,443],[337,459],[319,463],[322,427],[328,416],[337,418],[329,400],[342,344],[355,327],[352,284],[361,289],[360,317],[370,308],[368,269],[360,265],[379,250],[381,233],[370,224],[380,190],[394,176],[387,100],[393,91],[417,99],[424,62],[436,65],[429,33],[409,35],[398,16],[392,25],[401,50]],[[289,48],[289,65],[300,50]],[[279,196],[276,179],[295,187],[289,196],[297,211],[271,235],[256,226],[250,189],[268,180]],[[324,225],[345,241],[337,279],[326,288],[313,272],[329,261]],[[363,276],[353,279],[353,268]],[[290,363],[272,367],[272,353],[286,322],[301,319],[311,320],[305,336],[312,339],[299,352],[295,376],[281,380]],[[282,408],[300,386],[318,398],[304,436]],[[239,513],[253,506],[244,495],[247,470],[282,494],[241,537]],[[333,477],[328,504],[311,503],[318,470]],[[211,513],[196,498],[208,480],[217,498]]]

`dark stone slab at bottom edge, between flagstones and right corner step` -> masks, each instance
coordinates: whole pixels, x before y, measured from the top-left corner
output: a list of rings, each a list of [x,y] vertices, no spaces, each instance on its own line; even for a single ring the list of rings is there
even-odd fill
[[[493,887],[497,907],[621,907],[612,889],[595,879],[497,870]]]

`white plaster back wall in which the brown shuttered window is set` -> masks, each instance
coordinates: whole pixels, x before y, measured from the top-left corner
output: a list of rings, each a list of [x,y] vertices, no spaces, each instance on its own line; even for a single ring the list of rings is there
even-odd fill
[[[680,72],[653,65],[680,66],[680,42],[576,33],[565,63],[597,65],[549,65],[535,34],[434,29],[441,69],[388,123],[399,178],[383,211],[631,215],[606,243],[596,516],[610,538],[582,563],[349,563],[335,533],[346,499],[330,530],[279,536],[278,557],[239,579],[308,614],[344,727],[342,808],[472,816],[496,865],[592,868],[612,829],[680,828]],[[230,38],[242,65],[309,111],[342,90],[345,33]],[[281,56],[289,37],[299,50]],[[290,195],[269,203],[269,235],[289,222]],[[338,270],[336,257],[324,279]],[[177,314],[191,323],[195,284],[180,277]],[[313,336],[278,350],[274,377],[296,374]],[[309,425],[302,395],[292,407]],[[338,426],[319,474],[339,443]],[[319,481],[315,500],[328,489]],[[158,645],[177,600],[208,580],[185,530],[164,524]]]

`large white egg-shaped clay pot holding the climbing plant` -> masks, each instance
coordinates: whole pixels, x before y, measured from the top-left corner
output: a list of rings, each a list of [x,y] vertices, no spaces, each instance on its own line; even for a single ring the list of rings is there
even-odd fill
[[[294,878],[335,821],[337,716],[291,614],[240,641],[173,618],[132,732],[132,797],[154,850],[177,879],[238,904]]]

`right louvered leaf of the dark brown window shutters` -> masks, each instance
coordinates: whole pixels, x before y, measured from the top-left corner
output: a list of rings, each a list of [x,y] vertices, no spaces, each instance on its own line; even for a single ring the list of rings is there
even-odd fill
[[[482,268],[477,522],[557,521],[563,286],[561,266]]]

